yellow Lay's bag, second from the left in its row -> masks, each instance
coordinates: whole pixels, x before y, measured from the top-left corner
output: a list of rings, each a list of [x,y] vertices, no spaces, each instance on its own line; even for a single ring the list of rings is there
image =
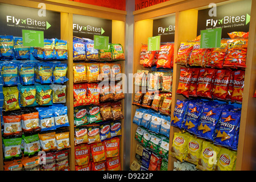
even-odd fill
[[[202,139],[199,139],[196,137],[189,137],[188,146],[187,146],[188,152],[184,160],[193,164],[197,164],[201,154],[202,144],[203,144]]]

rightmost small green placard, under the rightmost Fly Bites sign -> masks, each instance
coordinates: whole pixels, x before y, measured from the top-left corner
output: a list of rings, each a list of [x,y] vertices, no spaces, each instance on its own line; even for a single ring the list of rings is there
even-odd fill
[[[217,48],[221,43],[222,28],[201,30],[200,48]]]

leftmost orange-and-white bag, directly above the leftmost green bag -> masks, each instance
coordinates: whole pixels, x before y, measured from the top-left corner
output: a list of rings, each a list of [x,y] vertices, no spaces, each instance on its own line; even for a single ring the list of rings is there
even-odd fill
[[[22,135],[22,114],[3,111],[3,137]]]

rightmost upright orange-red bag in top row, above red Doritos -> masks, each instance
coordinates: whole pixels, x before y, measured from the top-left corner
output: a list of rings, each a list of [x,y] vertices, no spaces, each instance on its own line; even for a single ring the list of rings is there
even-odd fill
[[[248,39],[231,39],[228,40],[228,53],[223,67],[246,68]]]

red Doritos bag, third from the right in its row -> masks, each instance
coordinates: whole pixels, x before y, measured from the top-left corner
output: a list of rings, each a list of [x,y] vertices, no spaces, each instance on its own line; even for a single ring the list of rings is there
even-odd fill
[[[214,75],[216,69],[213,68],[201,68],[197,81],[196,95],[201,97],[212,98],[212,87],[214,82]]]

